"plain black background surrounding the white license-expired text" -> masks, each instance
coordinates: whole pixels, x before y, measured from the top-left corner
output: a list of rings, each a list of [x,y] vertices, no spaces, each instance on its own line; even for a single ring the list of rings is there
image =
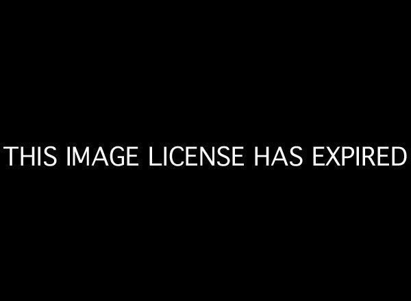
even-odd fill
[[[406,20],[369,8],[170,9],[10,16],[1,146],[244,145],[247,167],[3,164],[8,283],[211,296],[401,286],[409,163],[313,168],[310,149],[409,151]],[[301,168],[252,167],[253,146],[293,145],[306,150]]]

